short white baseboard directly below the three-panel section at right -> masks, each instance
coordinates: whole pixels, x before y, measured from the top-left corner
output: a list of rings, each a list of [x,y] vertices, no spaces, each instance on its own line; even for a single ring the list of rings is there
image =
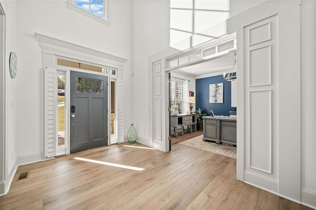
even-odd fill
[[[278,193],[278,181],[258,175],[249,171],[244,171],[244,181],[250,183],[260,189],[272,192],[274,194]]]

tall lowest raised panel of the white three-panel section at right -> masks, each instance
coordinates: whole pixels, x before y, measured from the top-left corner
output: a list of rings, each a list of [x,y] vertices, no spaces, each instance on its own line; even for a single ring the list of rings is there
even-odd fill
[[[249,168],[271,174],[272,91],[249,92]]]

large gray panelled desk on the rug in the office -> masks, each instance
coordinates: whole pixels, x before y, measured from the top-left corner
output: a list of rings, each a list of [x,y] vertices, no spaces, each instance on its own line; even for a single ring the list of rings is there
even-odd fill
[[[233,117],[203,117],[203,140],[237,145],[237,119]]]

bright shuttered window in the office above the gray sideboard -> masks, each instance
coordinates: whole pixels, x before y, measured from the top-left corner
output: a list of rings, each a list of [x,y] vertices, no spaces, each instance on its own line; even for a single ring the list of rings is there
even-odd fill
[[[188,110],[188,84],[186,80],[171,77],[170,81],[171,105],[178,105],[182,113]]]

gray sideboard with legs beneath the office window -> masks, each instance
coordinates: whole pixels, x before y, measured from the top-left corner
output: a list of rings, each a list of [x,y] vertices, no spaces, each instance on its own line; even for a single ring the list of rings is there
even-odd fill
[[[178,114],[171,116],[170,126],[173,127],[173,134],[178,137],[179,128],[181,136],[184,135],[184,127],[188,126],[190,133],[197,131],[197,114]]]

